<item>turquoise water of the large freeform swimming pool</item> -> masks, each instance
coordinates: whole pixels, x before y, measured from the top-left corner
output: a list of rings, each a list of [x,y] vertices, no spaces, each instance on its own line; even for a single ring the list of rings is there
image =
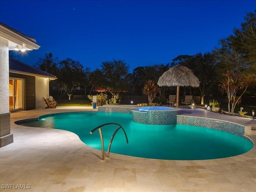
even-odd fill
[[[17,124],[56,128],[74,132],[88,146],[101,150],[99,132],[90,131],[105,123],[118,123],[122,130],[114,137],[110,153],[166,160],[204,160],[236,156],[249,151],[253,144],[226,132],[187,125],[148,125],[132,121],[132,114],[73,112],[41,116],[38,120]],[[105,151],[117,126],[102,128]],[[111,154],[110,154],[111,156]]]

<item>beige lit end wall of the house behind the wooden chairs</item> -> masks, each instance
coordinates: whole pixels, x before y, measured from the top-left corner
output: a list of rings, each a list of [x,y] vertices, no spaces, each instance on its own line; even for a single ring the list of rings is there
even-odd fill
[[[36,76],[36,108],[45,108],[45,98],[49,98],[49,79]]]

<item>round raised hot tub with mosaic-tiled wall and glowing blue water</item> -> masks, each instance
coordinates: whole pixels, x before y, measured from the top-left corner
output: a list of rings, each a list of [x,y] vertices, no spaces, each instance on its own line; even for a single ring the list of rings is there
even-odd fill
[[[171,125],[177,123],[180,108],[171,107],[140,107],[132,110],[132,120],[137,123],[150,125]]]

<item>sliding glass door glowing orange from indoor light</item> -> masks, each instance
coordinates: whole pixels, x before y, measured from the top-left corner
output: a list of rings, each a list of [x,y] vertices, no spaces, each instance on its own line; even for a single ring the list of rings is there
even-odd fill
[[[9,109],[23,109],[23,80],[17,78],[9,79]]]

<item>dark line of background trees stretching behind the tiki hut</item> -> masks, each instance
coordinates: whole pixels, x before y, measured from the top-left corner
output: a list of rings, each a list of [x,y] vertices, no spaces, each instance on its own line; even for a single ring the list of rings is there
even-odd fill
[[[206,94],[219,93],[218,84],[224,80],[223,73],[234,71],[241,76],[253,76],[256,73],[256,10],[246,14],[240,28],[234,28],[233,32],[221,39],[219,46],[212,52],[180,55],[167,64],[138,66],[132,74],[128,72],[130,66],[124,60],[104,61],[101,68],[91,72],[90,68],[84,69],[79,61],[71,58],[59,61],[52,53],[39,58],[36,66],[57,76],[57,80],[50,82],[52,90],[70,95],[79,86],[92,86],[91,94],[94,86],[101,86],[116,98],[121,92],[143,95],[148,80],[157,82],[165,71],[181,64],[190,68],[200,81],[199,88],[184,88],[183,94],[190,91],[190,94],[200,95],[203,104]],[[255,92],[253,89],[250,91],[251,94]],[[159,94],[164,96],[170,92],[174,92],[174,88],[161,87]]]

